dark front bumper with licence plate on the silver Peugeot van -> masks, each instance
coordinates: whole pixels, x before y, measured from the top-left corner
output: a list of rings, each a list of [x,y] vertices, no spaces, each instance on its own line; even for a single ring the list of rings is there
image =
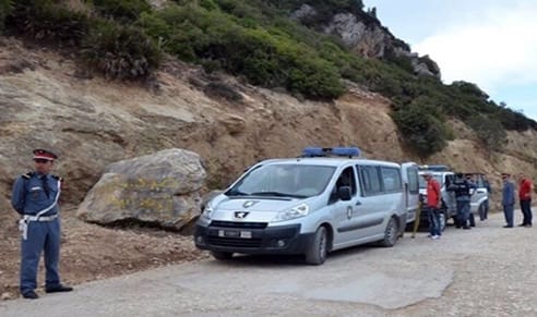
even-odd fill
[[[314,233],[300,234],[300,224],[238,227],[218,221],[198,224],[194,232],[198,248],[241,254],[305,254],[313,239]]]

